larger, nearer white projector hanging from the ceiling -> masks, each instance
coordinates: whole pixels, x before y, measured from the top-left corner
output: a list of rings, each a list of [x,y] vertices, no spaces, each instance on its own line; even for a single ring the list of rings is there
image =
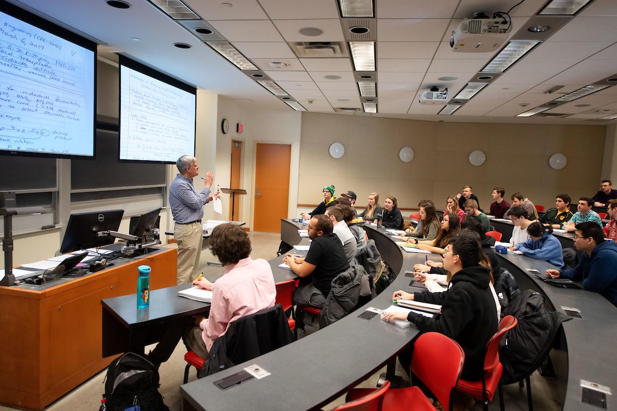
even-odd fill
[[[499,49],[508,39],[511,24],[505,18],[463,18],[452,31],[450,47],[462,53],[487,53]]]

